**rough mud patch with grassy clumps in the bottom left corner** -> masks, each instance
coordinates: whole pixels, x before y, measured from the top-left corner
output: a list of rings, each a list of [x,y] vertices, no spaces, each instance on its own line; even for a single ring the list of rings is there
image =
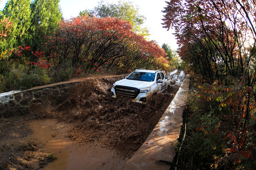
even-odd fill
[[[24,122],[0,125],[0,170],[39,169],[56,159],[34,138]]]

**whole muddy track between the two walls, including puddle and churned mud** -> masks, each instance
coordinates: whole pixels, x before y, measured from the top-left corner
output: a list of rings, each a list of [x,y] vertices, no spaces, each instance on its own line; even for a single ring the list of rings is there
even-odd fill
[[[111,98],[112,84],[121,78],[87,79],[58,107],[47,103],[38,119],[0,125],[0,170],[120,169],[154,129],[181,82],[141,105]]]

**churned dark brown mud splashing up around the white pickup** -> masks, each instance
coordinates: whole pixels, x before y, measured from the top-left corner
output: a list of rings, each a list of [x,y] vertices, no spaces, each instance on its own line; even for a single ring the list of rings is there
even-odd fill
[[[43,112],[42,117],[72,123],[69,137],[79,142],[99,141],[131,157],[154,129],[178,91],[172,84],[154,95],[146,105],[120,97],[112,99],[112,84],[122,79],[88,79],[75,86],[66,101]]]

